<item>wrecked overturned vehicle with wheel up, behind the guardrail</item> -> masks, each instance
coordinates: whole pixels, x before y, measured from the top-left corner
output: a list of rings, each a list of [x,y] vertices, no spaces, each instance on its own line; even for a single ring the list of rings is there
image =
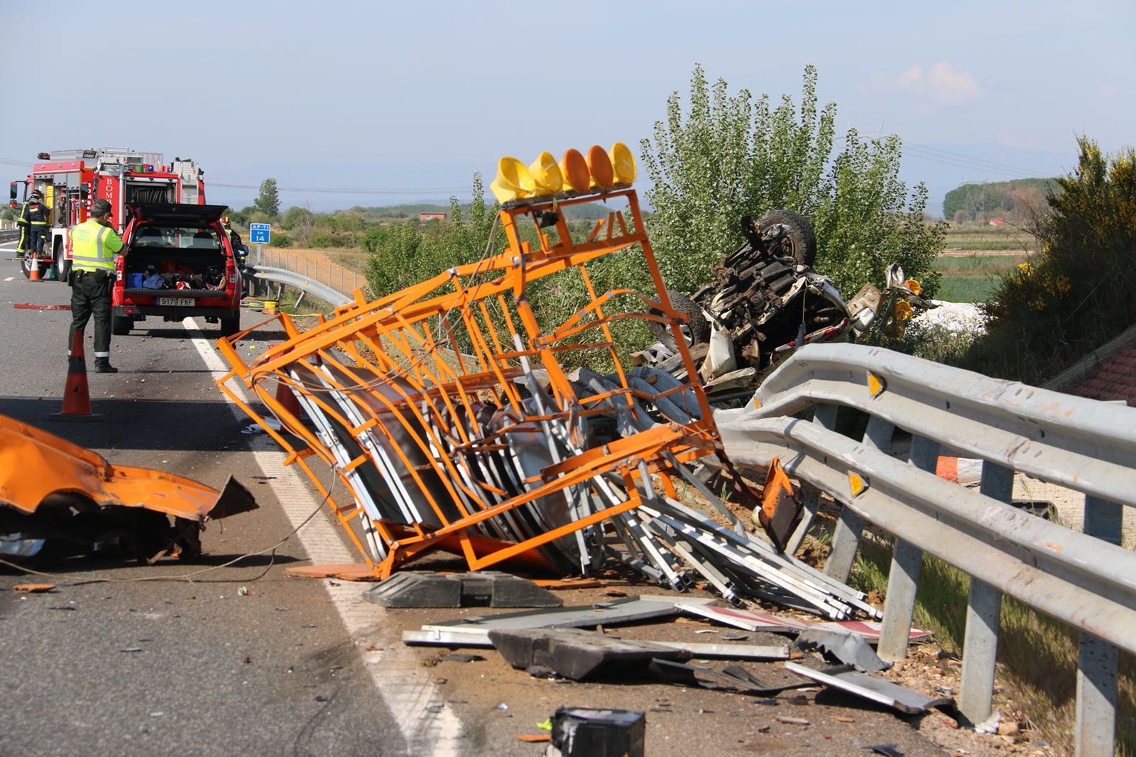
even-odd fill
[[[933,308],[918,282],[889,266],[883,290],[864,284],[845,301],[828,276],[812,269],[812,227],[791,210],[754,222],[742,217],[745,241],[715,266],[715,281],[691,297],[668,292],[690,319],[682,328],[710,401],[733,407],[753,394],[762,375],[811,342],[863,338],[875,328],[902,330],[917,308]],[[659,340],[634,357],[683,378],[686,369],[670,331],[653,323]]]

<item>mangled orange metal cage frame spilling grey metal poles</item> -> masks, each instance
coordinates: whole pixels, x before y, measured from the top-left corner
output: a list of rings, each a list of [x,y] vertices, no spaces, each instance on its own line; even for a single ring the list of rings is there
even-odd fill
[[[878,616],[862,594],[750,533],[692,474],[707,456],[729,469],[702,386],[625,369],[612,336],[619,321],[661,323],[694,376],[685,316],[671,307],[634,190],[603,192],[618,209],[574,235],[562,209],[595,199],[506,202],[500,255],[371,301],[357,291],[306,331],[278,314],[223,339],[232,369],[218,385],[321,494],[316,460],[334,467],[350,498],[327,496],[329,507],[381,579],[434,550],[471,571],[588,574],[616,559],[735,604],[760,597],[833,618]],[[653,297],[596,291],[594,266],[612,255],[637,258],[627,265],[649,272]],[[541,323],[534,291],[590,301]],[[236,343],[281,328],[286,341],[247,364]],[[588,361],[609,369],[570,369]],[[729,525],[683,505],[691,488]]]

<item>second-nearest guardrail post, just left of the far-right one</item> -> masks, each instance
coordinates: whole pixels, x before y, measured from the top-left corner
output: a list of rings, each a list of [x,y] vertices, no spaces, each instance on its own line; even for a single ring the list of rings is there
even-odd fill
[[[989,460],[984,461],[978,490],[993,499],[1011,501],[1013,471]],[[972,724],[982,723],[991,716],[1001,619],[1002,592],[985,581],[971,576],[970,593],[967,598],[967,631],[962,642],[959,712]]]

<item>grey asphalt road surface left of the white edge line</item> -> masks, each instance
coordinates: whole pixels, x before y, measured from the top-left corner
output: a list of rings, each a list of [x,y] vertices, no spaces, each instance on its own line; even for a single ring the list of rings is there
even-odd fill
[[[48,579],[60,584],[57,591],[24,597],[10,588],[26,579],[0,567],[0,755],[417,751],[377,696],[324,585],[284,575],[308,557],[298,539],[277,550],[257,581],[267,556],[193,583],[130,582],[217,565],[292,530],[274,482],[257,477],[264,474],[250,449],[254,439],[241,433],[247,424],[212,385],[193,344],[192,336],[215,339],[216,326],[194,334],[170,323],[116,336],[111,359],[120,372],[89,374],[93,410],[106,421],[49,423],[66,378],[70,314],[12,303],[64,303],[70,290],[32,284],[10,263],[3,268],[12,272],[5,280],[0,281],[0,414],[115,463],[217,488],[232,474],[261,507],[210,524],[206,556],[193,566],[72,559],[44,568],[62,574]],[[92,576],[119,582],[64,585]],[[239,594],[240,587],[248,593]]]

